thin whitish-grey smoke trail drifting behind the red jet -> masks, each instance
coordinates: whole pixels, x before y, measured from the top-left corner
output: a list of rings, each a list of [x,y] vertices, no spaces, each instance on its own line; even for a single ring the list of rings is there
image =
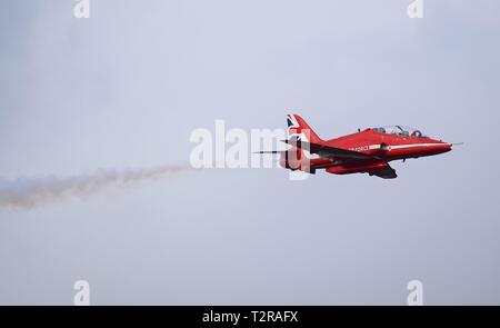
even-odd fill
[[[158,166],[124,171],[100,169],[71,177],[0,178],[0,207],[31,209],[68,198],[86,198],[104,189],[123,188],[189,169],[188,166]]]

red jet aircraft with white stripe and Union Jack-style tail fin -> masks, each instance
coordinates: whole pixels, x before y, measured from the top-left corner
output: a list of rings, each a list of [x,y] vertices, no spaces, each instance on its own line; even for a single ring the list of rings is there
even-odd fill
[[[316,173],[326,169],[333,175],[369,173],[383,179],[398,176],[389,166],[391,160],[406,160],[450,151],[453,143],[434,140],[419,130],[401,126],[370,128],[331,140],[322,140],[298,115],[289,115],[287,151],[281,153],[280,166],[291,170]]]

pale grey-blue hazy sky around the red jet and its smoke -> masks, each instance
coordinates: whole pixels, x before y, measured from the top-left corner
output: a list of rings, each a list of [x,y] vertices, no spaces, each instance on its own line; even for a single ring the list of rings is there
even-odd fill
[[[194,128],[324,138],[401,123],[466,145],[398,179],[183,172],[0,208],[0,304],[500,304],[500,3],[0,2],[0,177],[189,160]]]

